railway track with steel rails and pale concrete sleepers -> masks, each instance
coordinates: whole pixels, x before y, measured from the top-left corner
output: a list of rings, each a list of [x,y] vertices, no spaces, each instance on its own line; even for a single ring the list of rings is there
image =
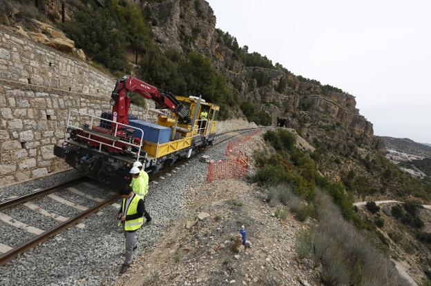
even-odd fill
[[[242,130],[233,130],[233,131],[223,132],[223,133],[217,134],[216,137],[219,138],[220,136],[223,136],[226,134],[236,133],[236,134],[233,134],[232,136],[229,136],[225,139],[222,139],[222,140],[214,143],[210,147],[220,145],[221,143],[224,143],[224,142],[228,141],[229,139],[232,139],[233,137],[238,136],[240,134],[245,134],[247,132],[262,129],[262,128],[265,128],[265,127],[245,128]],[[153,176],[150,176],[150,180],[153,181],[153,180],[155,180],[155,178],[159,178],[162,174],[169,172],[169,170],[172,170],[173,168],[177,167],[178,165],[181,165],[182,163],[184,163],[184,161],[178,161],[178,163],[175,163],[173,166],[169,167],[168,170],[164,170],[163,172],[160,172],[160,173],[154,174]],[[97,212],[97,210],[101,209],[102,207],[105,207],[106,205],[114,203],[119,198],[118,194],[112,194],[110,197],[108,197],[106,199],[95,198],[89,194],[85,194],[84,192],[80,192],[74,188],[74,186],[79,185],[81,183],[86,183],[87,181],[88,181],[88,178],[86,178],[86,177],[76,178],[74,180],[67,181],[65,183],[55,185],[53,187],[48,187],[44,190],[32,192],[31,194],[19,196],[17,198],[11,199],[9,201],[0,203],[0,220],[1,221],[8,223],[8,224],[12,224],[13,226],[19,227],[21,229],[26,229],[26,230],[32,232],[32,234],[36,235],[32,239],[30,239],[29,241],[26,241],[26,243],[22,243],[21,245],[17,245],[16,247],[9,247],[8,245],[3,245],[0,242],[0,250],[1,250],[1,252],[3,252],[3,254],[1,254],[1,256],[0,256],[0,266],[5,265],[9,261],[12,261],[19,254],[26,252],[28,249],[32,249],[33,247],[40,245],[41,243],[44,243],[44,241],[47,241],[52,236],[59,234],[60,232],[64,231],[64,229],[67,229],[73,225],[76,225],[79,221],[82,221],[82,219],[86,218],[87,216],[90,216],[90,214]],[[86,198],[93,199],[93,201],[97,201],[97,204],[93,205],[91,207],[82,207],[82,206],[79,206],[78,204],[75,204],[75,207],[78,206],[77,208],[81,209],[81,212],[79,212],[79,214],[76,214],[75,216],[68,218],[68,217],[56,215],[52,212],[48,212],[48,211],[44,210],[43,208],[39,207],[38,205],[31,203],[32,201],[35,201],[37,198],[41,198],[44,196],[50,196],[51,198],[54,198],[57,201],[61,202],[61,197],[59,197],[55,194],[52,194],[52,193],[62,192],[62,191],[67,192],[67,190],[73,190],[73,192],[75,192],[75,194],[79,194],[79,196],[84,196]],[[68,205],[68,203],[70,203],[70,202],[63,199],[62,203],[65,203],[66,205]],[[27,225],[26,223],[22,223],[21,221],[16,221],[15,219],[12,219],[7,214],[3,214],[4,210],[11,210],[12,208],[17,207],[19,205],[24,205],[32,211],[39,212],[39,214],[42,214],[42,215],[50,217],[50,218],[54,218],[55,220],[60,221],[61,223],[59,223],[53,227],[50,227],[46,231],[42,231],[41,229],[39,229],[37,227],[32,227],[31,225]]]

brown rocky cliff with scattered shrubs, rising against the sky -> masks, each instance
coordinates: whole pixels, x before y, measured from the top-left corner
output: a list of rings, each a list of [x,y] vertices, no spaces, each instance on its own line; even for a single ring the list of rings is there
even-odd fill
[[[295,76],[280,65],[262,68],[238,59],[236,48],[232,48],[235,38],[215,28],[215,15],[207,1],[166,0],[142,5],[151,11],[155,40],[163,50],[204,54],[227,76],[239,101],[262,107],[273,123],[276,117],[286,117],[289,127],[303,128],[305,134],[331,144],[338,139],[336,145],[341,149],[349,142],[383,147],[373,137],[372,123],[356,109],[354,96]],[[256,79],[256,74],[260,78]]]

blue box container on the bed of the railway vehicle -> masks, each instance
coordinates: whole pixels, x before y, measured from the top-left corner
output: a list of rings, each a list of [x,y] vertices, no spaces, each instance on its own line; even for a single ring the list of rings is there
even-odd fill
[[[144,141],[152,143],[168,143],[171,140],[171,128],[142,120],[131,120],[128,125],[144,130]],[[135,130],[134,136],[141,139],[141,131]]]

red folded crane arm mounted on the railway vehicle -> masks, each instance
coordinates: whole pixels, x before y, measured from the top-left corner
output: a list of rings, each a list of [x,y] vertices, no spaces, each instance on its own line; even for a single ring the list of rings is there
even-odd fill
[[[146,99],[153,99],[162,108],[169,108],[169,110],[172,110],[181,118],[184,118],[188,114],[188,110],[172,94],[159,92],[153,85],[149,85],[132,76],[123,76],[115,84],[115,89],[111,95],[113,121],[117,123],[128,125],[127,115],[130,107],[130,97],[127,96],[127,92],[135,92]]]

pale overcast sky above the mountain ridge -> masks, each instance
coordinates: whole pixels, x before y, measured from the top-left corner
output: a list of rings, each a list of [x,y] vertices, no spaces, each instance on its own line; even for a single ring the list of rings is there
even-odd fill
[[[431,1],[207,1],[249,52],[356,96],[374,134],[431,143]]]

